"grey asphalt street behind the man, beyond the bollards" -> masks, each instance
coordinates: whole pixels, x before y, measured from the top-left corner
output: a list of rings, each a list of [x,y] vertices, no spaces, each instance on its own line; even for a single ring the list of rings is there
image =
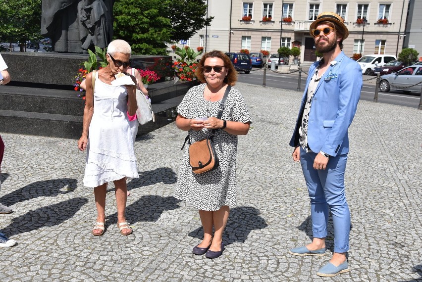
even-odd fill
[[[238,81],[244,83],[250,83],[255,85],[263,85],[264,70],[257,70],[256,68],[252,69],[250,74],[245,74],[244,72],[239,73]],[[298,72],[293,74],[282,74],[275,73],[267,69],[265,86],[274,87],[288,90],[298,90]],[[302,94],[305,89],[307,75],[302,72],[300,93]],[[365,81],[374,76],[364,75],[364,86],[361,92],[361,100],[373,101],[375,94],[375,83],[376,79]],[[416,92],[404,94],[402,91],[390,91],[388,93],[383,93],[378,91],[378,102],[401,105],[406,107],[418,108],[420,102],[421,94]]]

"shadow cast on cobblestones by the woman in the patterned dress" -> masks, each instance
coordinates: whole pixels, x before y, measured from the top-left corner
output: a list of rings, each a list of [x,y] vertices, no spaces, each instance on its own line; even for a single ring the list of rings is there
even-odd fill
[[[260,211],[254,207],[235,207],[230,210],[226,229],[223,233],[224,245],[234,242],[244,243],[252,230],[264,229],[268,225],[259,215]],[[188,234],[191,237],[203,239],[204,230],[202,227],[195,229]]]

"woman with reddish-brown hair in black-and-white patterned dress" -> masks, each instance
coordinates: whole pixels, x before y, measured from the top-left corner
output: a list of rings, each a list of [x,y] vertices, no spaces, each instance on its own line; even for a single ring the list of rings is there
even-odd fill
[[[196,76],[205,83],[191,88],[185,95],[177,107],[176,126],[189,132],[192,143],[210,137],[214,129],[213,142],[219,166],[203,174],[194,174],[187,147],[174,197],[199,210],[204,239],[193,248],[193,253],[217,258],[224,250],[222,234],[229,206],[236,204],[237,136],[246,135],[252,121],[242,94],[234,88],[227,96],[221,119],[216,118],[227,86],[234,85],[237,80],[237,72],[223,52],[213,50],[204,54]]]

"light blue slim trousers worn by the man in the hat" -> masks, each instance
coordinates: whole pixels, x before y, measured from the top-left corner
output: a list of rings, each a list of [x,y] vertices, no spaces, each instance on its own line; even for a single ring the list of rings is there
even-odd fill
[[[300,150],[300,162],[311,198],[312,231],[315,238],[327,236],[328,212],[334,227],[334,252],[349,250],[350,212],[344,190],[347,154],[330,157],[325,170],[314,169],[314,152]]]

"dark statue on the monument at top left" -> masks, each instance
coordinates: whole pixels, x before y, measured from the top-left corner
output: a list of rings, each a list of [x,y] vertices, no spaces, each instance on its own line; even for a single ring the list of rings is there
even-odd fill
[[[115,0],[43,0],[41,35],[53,51],[82,53],[104,48],[113,36]]]

